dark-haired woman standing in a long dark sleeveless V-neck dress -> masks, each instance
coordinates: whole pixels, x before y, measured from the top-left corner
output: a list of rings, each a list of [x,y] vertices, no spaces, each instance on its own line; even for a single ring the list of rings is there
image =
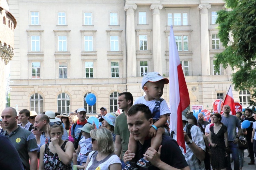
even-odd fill
[[[211,163],[214,169],[226,169],[228,165],[226,149],[228,149],[227,126],[221,122],[221,114],[215,113],[212,116],[213,126],[209,131],[209,142],[211,149]]]

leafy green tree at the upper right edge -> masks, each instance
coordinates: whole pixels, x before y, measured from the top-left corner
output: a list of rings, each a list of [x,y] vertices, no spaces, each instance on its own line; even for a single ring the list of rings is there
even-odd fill
[[[215,66],[230,66],[236,90],[248,89],[256,97],[256,0],[224,0],[219,11],[218,36],[225,50],[215,55]],[[232,35],[233,40],[230,39]],[[254,102],[252,102],[254,103]],[[255,103],[254,103],[255,104]]]

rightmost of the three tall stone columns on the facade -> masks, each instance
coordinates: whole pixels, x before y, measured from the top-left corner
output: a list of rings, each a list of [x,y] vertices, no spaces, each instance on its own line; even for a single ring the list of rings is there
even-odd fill
[[[202,58],[202,75],[211,75],[210,67],[210,41],[208,29],[208,9],[211,4],[202,3],[198,6],[201,15],[201,58]]]

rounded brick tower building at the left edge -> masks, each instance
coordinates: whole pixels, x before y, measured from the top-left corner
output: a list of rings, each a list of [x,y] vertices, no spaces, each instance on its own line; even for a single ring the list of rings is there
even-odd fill
[[[5,65],[14,57],[16,19],[9,12],[8,1],[0,0],[0,111],[5,108]]]

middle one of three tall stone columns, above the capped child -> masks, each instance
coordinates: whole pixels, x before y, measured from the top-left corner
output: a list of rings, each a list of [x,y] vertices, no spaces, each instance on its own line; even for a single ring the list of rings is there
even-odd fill
[[[151,4],[150,10],[153,15],[153,64],[154,69],[162,74],[161,61],[161,32],[160,32],[160,10],[163,8],[161,4]]]

